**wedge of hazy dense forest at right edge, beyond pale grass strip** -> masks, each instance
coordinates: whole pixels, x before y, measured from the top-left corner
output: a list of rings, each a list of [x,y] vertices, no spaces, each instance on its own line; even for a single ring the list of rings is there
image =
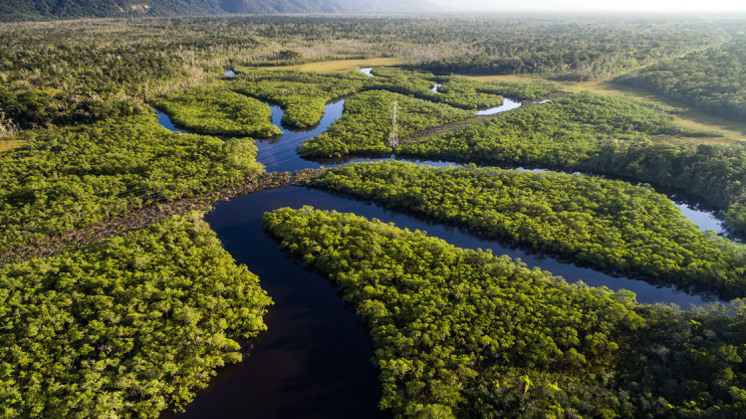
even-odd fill
[[[714,115],[746,119],[746,38],[625,75],[623,83],[655,90]]]

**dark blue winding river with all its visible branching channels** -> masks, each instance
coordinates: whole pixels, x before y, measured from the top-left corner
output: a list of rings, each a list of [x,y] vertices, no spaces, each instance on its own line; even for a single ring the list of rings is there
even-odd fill
[[[506,101],[507,102],[507,101]],[[511,101],[512,102],[512,101]],[[514,102],[517,103],[517,102]],[[505,106],[505,105],[503,105]],[[510,107],[514,109],[520,106]],[[281,126],[282,109],[272,108],[272,122]],[[259,161],[267,171],[297,171],[321,164],[303,160],[297,146],[325,131],[342,116],[344,100],[326,106],[319,125],[311,130],[284,128],[279,138],[256,142]],[[500,112],[500,111],[496,111]],[[168,116],[159,121],[172,130]],[[170,124],[170,125],[169,125]],[[184,132],[178,130],[180,132]],[[355,159],[370,161],[386,159]],[[434,166],[447,162],[417,161]],[[338,163],[342,164],[342,163]],[[334,164],[325,164],[333,166]],[[475,237],[458,228],[428,221],[383,207],[301,187],[267,190],[221,203],[206,216],[224,248],[238,263],[261,278],[262,287],[275,302],[265,321],[268,331],[253,342],[244,362],[221,369],[210,387],[200,392],[183,417],[368,418],[380,417],[377,403],[380,384],[370,359],[371,341],[356,316],[348,311],[329,281],[306,270],[301,262],[281,251],[261,230],[266,211],[312,205],[319,209],[354,212],[368,218],[420,229],[464,248],[490,249],[494,254],[520,258],[529,267],[540,267],[568,282],[584,281],[611,289],[628,289],[643,303],[676,303],[683,307],[706,299],[656,287],[643,281],[613,277],[551,257],[528,253],[495,241]],[[722,231],[711,214],[678,204],[700,228]]]

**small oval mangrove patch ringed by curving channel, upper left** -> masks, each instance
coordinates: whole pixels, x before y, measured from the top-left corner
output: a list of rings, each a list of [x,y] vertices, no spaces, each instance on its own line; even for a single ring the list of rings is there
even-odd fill
[[[272,125],[269,106],[226,88],[171,94],[156,101],[155,106],[177,125],[199,134],[265,138],[282,134]]]

